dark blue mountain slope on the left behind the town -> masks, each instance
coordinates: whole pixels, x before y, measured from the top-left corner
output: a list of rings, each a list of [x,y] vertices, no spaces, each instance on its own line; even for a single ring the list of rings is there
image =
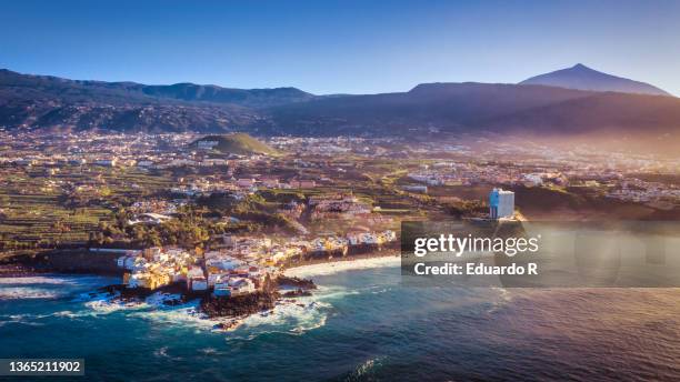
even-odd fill
[[[313,98],[294,88],[77,81],[0,69],[0,128],[224,132],[257,129],[258,109]]]

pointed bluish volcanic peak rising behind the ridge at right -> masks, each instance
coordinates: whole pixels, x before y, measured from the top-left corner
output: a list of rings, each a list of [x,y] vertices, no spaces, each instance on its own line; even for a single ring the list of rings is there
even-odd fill
[[[520,84],[543,84],[548,87],[591,91],[617,91],[621,93],[671,96],[649,83],[602,73],[581,63],[577,63],[571,68],[532,77],[520,82]]]

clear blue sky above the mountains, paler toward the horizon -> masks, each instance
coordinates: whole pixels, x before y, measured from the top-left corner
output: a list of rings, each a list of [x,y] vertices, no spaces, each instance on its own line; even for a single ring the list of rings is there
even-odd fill
[[[583,63],[680,94],[680,1],[0,0],[0,68],[317,93]]]

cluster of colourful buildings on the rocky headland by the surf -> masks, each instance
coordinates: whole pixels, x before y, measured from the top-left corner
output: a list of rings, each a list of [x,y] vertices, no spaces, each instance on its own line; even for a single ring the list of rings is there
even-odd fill
[[[124,270],[128,288],[154,290],[184,283],[188,291],[212,291],[216,296],[236,296],[262,290],[287,261],[313,253],[342,252],[352,245],[381,245],[397,240],[393,231],[351,233],[347,237],[290,239],[222,235],[214,250],[202,254],[180,248],[121,250],[117,265]]]

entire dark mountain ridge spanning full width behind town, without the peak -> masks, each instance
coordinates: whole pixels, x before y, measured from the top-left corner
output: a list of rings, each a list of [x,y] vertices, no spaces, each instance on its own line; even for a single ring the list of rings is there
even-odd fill
[[[146,86],[0,70],[1,128],[326,137],[421,137],[429,131],[543,137],[614,131],[620,135],[680,137],[680,99],[474,82],[423,83],[407,92],[328,97],[293,88]]]

